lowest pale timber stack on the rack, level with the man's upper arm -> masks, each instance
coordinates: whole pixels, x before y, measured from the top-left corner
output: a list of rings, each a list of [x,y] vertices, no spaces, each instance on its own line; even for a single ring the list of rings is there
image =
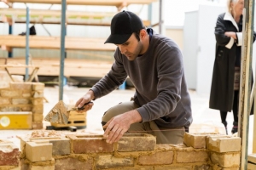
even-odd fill
[[[0,58],[0,63],[5,59]],[[9,58],[7,65],[19,65],[26,63],[25,58]],[[38,76],[59,76],[60,60],[52,58],[33,58],[33,64],[39,67]],[[105,76],[112,66],[112,62],[91,61],[88,59],[65,59],[65,77],[97,77]],[[9,67],[11,75],[24,75],[22,67]],[[32,74],[32,69],[29,70]]]

